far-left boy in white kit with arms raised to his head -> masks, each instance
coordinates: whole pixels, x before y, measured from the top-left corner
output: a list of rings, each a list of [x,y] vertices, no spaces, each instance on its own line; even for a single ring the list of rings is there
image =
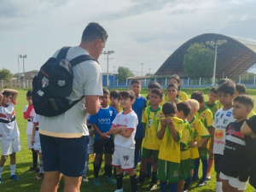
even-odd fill
[[[20,178],[15,175],[16,156],[20,151],[20,131],[15,119],[15,101],[18,96],[17,90],[3,89],[0,91],[0,141],[2,156],[0,160],[0,183],[1,174],[7,156],[10,157],[10,179],[19,181]]]

